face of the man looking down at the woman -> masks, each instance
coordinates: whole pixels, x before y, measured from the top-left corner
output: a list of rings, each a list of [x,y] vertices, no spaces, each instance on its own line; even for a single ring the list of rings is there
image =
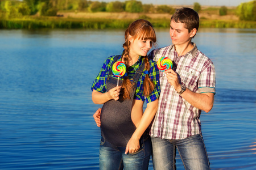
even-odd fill
[[[172,44],[185,45],[191,41],[193,35],[192,31],[188,32],[188,29],[184,28],[183,23],[175,23],[174,20],[171,20],[170,37],[172,39]]]

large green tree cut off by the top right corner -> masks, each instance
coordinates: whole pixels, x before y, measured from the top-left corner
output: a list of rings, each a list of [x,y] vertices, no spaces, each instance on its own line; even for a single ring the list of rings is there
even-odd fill
[[[241,3],[236,13],[241,20],[256,21],[256,1]]]

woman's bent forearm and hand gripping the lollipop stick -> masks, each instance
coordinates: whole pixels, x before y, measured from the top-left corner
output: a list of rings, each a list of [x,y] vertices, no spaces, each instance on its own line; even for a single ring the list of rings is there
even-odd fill
[[[110,89],[108,92],[102,93],[96,90],[92,92],[92,100],[95,104],[104,104],[109,100],[118,100],[120,94],[121,86],[114,87]]]

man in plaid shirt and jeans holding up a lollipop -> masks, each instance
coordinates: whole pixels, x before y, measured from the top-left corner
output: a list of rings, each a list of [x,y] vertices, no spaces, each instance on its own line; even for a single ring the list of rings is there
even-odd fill
[[[171,17],[172,45],[148,56],[155,61],[168,57],[174,63],[173,69],[160,73],[158,112],[150,130],[156,170],[176,169],[176,149],[185,169],[210,169],[199,118],[201,110],[209,112],[213,107],[215,70],[191,41],[198,28],[197,12],[180,8]]]

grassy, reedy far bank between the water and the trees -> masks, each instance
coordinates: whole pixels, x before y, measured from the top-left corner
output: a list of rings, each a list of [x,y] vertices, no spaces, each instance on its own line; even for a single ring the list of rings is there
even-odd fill
[[[167,13],[59,11],[57,16],[1,19],[0,29],[123,29],[136,19],[146,19],[155,28],[168,28],[170,18],[171,14]],[[256,28],[256,22],[240,20],[232,12],[220,16],[215,9],[199,12],[199,18],[201,28]]]

